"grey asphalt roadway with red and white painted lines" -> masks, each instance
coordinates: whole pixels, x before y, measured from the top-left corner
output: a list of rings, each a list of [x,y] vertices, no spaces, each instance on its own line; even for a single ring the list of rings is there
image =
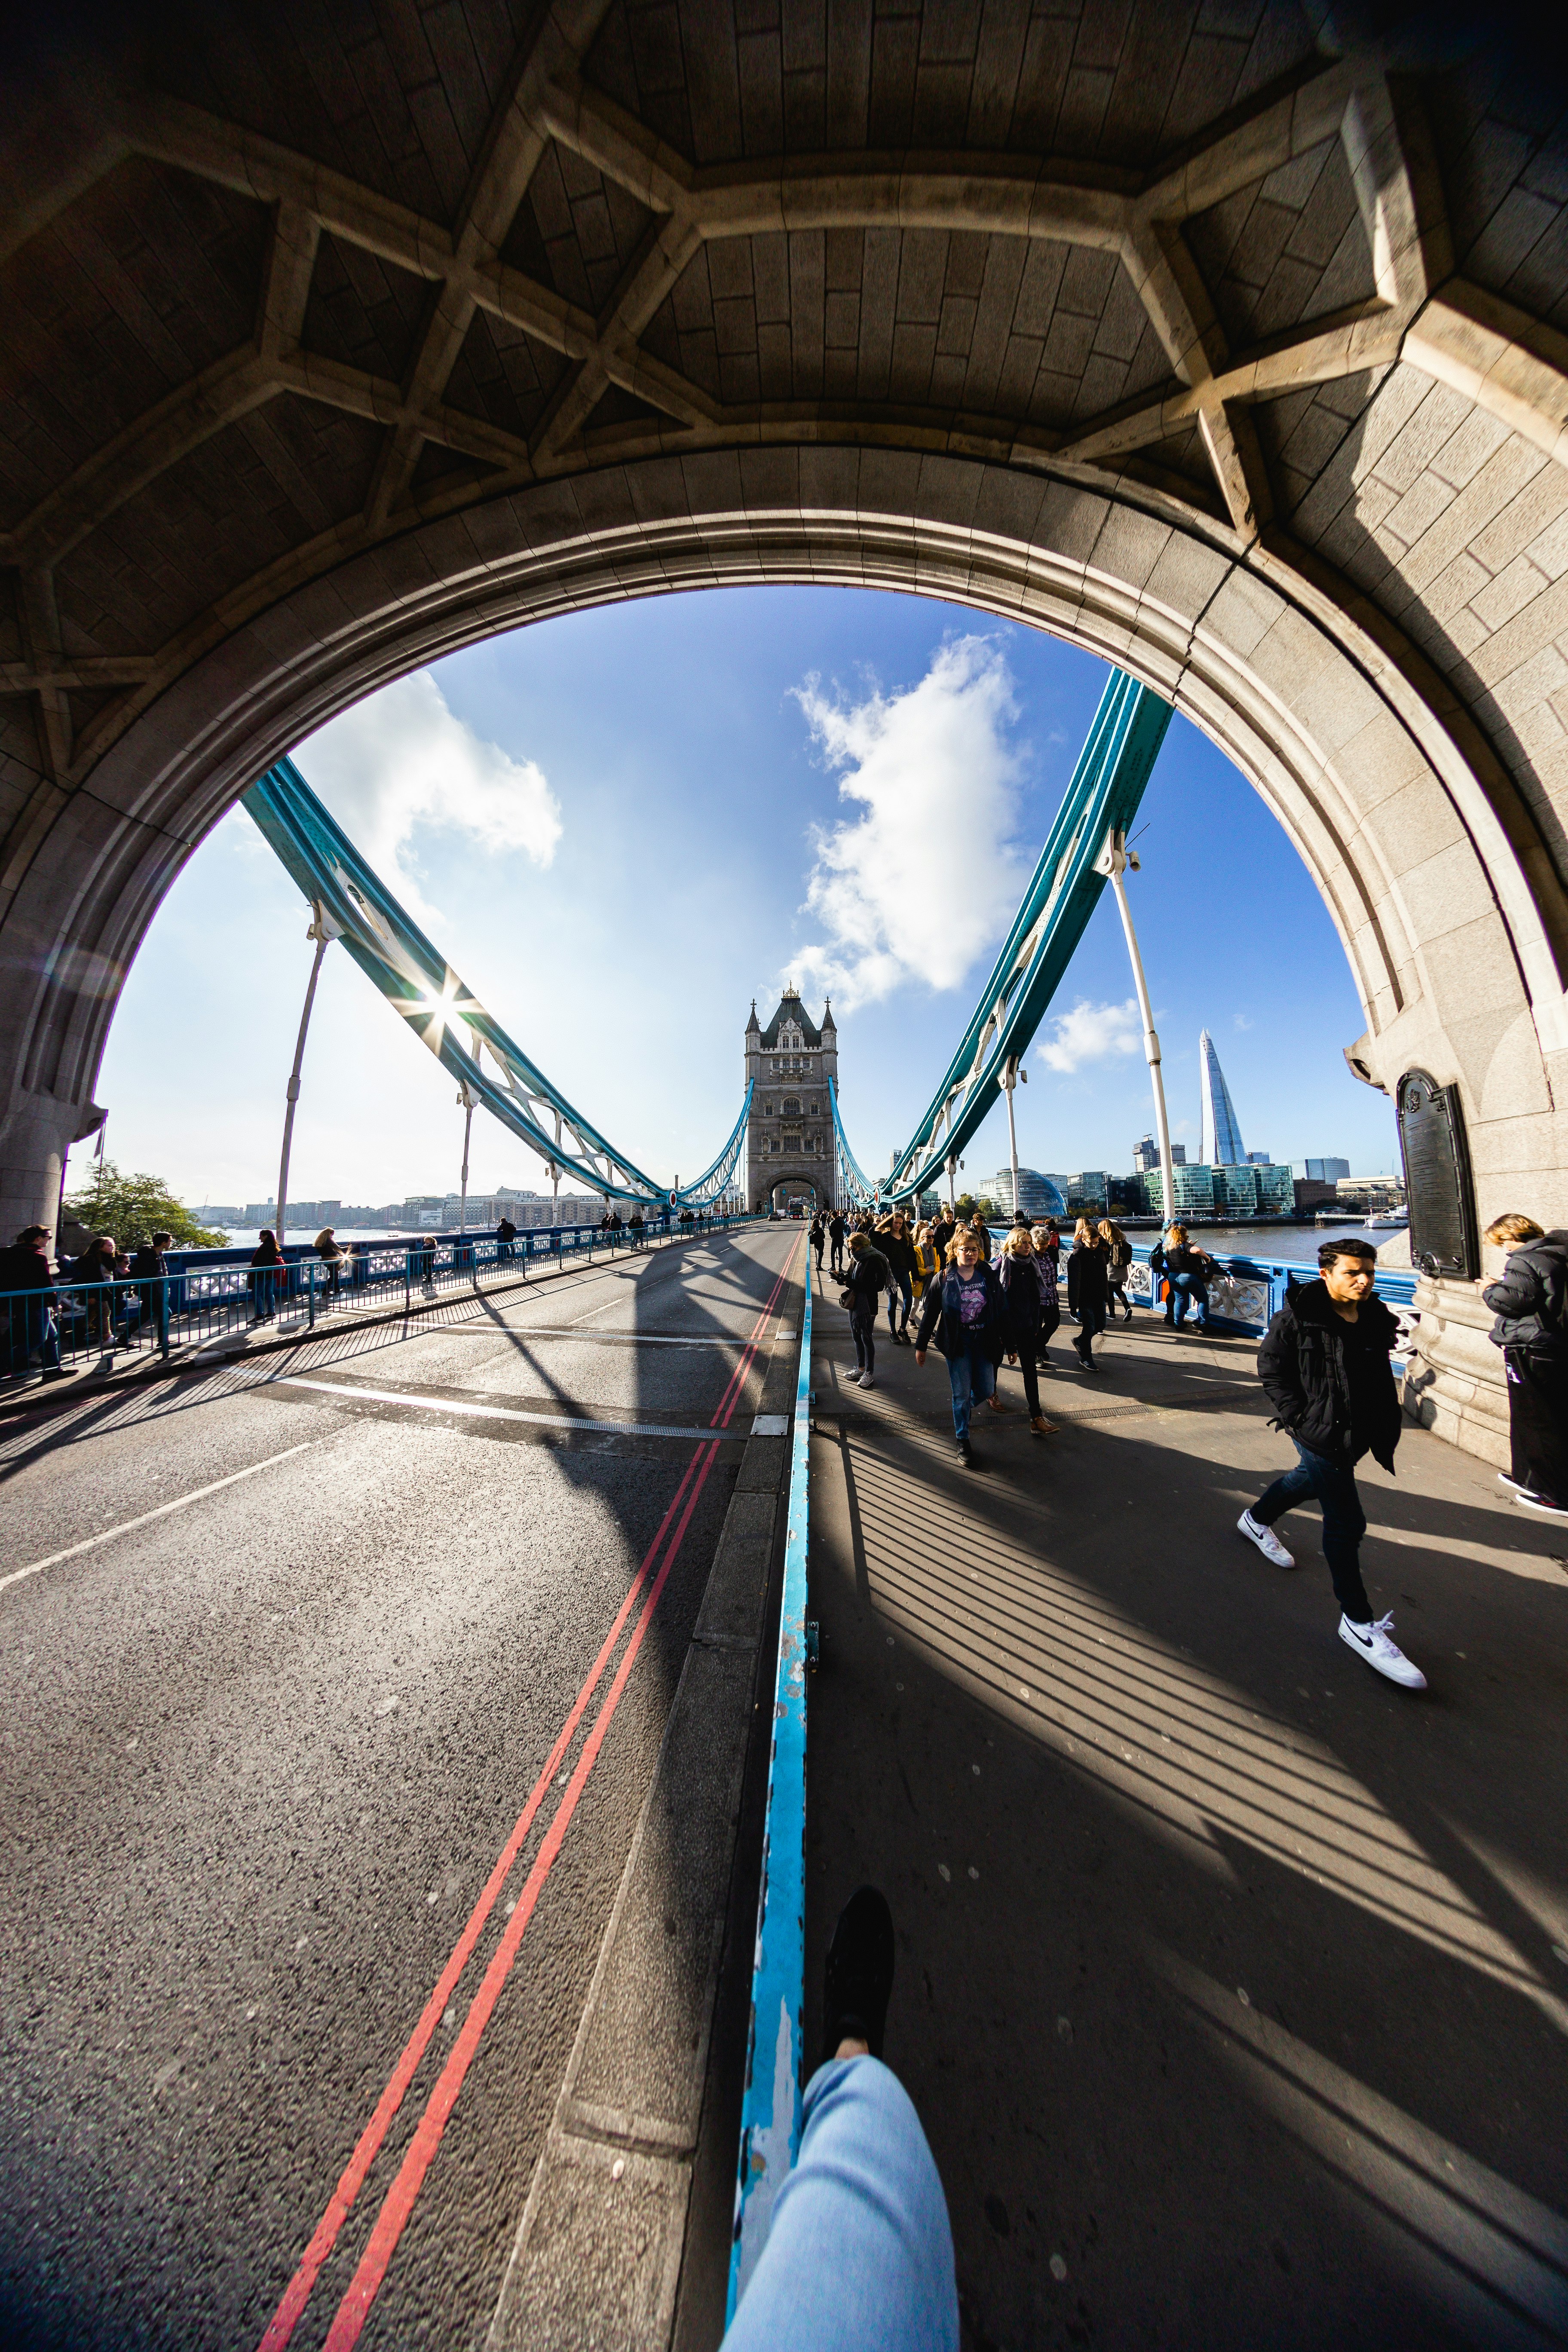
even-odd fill
[[[0,1423],[7,2347],[484,2340],[795,1244]]]

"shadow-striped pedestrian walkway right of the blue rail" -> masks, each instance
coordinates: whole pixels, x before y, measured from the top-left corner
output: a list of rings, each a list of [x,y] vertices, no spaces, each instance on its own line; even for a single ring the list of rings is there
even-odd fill
[[[1568,1531],[1420,1430],[1363,1569],[1420,1698],[1335,1637],[1253,1341],[1140,1315],[1060,1435],[813,1327],[806,2046],[844,1898],[898,1924],[889,2063],[966,2345],[1568,2343]]]

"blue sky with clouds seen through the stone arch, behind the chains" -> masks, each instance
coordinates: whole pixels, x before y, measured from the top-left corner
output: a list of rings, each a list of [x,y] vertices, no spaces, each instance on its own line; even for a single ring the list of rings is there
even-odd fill
[[[886,1167],[936,1087],[1105,687],[1037,630],[924,597],[738,588],[494,637],[299,748],[303,774],[463,981],[656,1174],[693,1174],[741,1101],[752,995],[832,983],[844,1120]],[[1131,880],[1171,1127],[1197,1155],[1215,1037],[1248,1150],[1394,1164],[1345,1070],[1363,1014],[1328,913],[1253,788],[1175,717]],[[249,816],[202,842],[127,978],[96,1098],[108,1150],[190,1200],[277,1178],[310,948]],[[1150,1087],[1103,898],[1018,1094],[1032,1167],[1131,1167]],[[329,950],[289,1192],[456,1185],[454,1082]],[[969,1176],[1006,1160],[1001,1108]],[[484,1115],[473,1188],[548,1190]]]

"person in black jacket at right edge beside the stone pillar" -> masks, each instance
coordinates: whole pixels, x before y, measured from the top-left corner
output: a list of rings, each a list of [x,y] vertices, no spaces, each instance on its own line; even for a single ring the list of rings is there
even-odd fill
[[[1509,1383],[1509,1475],[1526,1510],[1568,1519],[1568,1230],[1542,1232],[1533,1216],[1500,1216],[1486,1240],[1509,1263],[1481,1291],[1493,1345]]]

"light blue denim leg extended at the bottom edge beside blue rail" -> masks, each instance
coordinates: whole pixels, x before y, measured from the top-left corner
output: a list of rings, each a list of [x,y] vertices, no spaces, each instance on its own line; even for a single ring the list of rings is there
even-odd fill
[[[832,2058],[806,2084],[799,2159],[724,2345],[959,2352],[947,2199],[879,2058]]]

